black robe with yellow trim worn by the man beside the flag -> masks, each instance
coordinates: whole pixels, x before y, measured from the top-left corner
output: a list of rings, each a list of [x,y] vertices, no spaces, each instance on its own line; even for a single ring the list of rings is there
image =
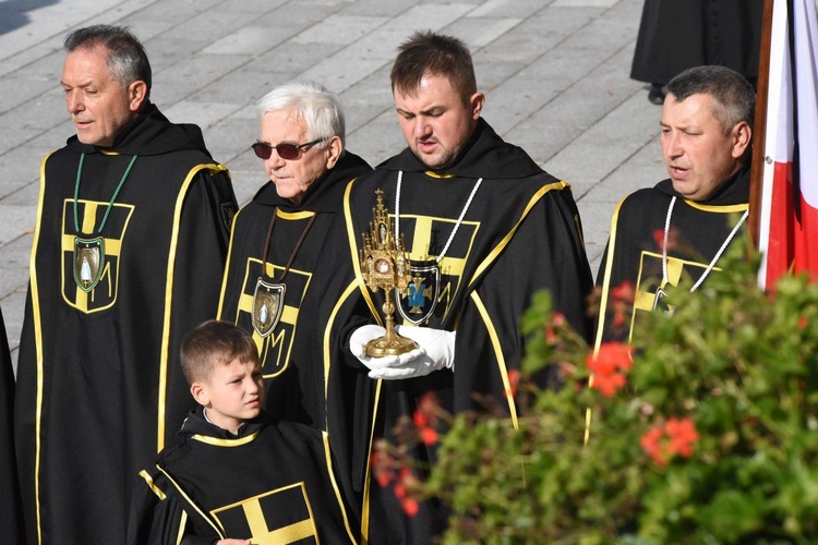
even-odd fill
[[[670,286],[661,287],[664,226],[674,196],[667,244]],[[614,209],[597,276],[601,292],[594,346],[629,341],[639,316],[653,311],[658,288],[670,291],[683,275],[694,282],[701,278],[748,203],[749,169],[736,172],[700,203],[685,199],[670,179],[623,198]],[[739,234],[741,230],[733,240]],[[717,263],[710,274],[719,270]],[[661,301],[659,307],[663,308]]]

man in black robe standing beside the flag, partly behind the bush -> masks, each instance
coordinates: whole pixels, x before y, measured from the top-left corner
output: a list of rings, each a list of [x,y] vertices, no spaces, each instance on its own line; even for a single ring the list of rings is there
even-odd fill
[[[747,218],[755,92],[724,66],[667,84],[661,144],[670,178],[619,202],[602,256],[596,347],[633,338],[640,313],[670,312],[683,277],[698,289]]]

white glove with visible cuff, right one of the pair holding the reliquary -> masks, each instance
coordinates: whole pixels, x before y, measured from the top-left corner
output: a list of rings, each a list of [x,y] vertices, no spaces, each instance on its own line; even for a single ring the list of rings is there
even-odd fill
[[[395,326],[395,331],[412,339],[420,348],[398,356],[371,358],[369,364],[361,360],[372,370],[370,378],[388,380],[425,376],[442,368],[455,371],[455,331],[410,326]]]

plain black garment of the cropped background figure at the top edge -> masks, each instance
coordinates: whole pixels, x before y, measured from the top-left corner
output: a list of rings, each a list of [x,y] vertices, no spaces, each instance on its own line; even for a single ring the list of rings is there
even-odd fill
[[[763,0],[645,0],[630,77],[665,85],[702,64],[758,77]]]

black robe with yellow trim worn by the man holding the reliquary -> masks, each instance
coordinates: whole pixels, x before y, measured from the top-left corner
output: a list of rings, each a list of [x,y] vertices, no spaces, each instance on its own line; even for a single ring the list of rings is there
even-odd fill
[[[532,294],[551,290],[554,307],[580,335],[588,336],[590,330],[585,299],[592,277],[570,187],[544,172],[521,148],[505,143],[483,120],[445,172],[429,171],[407,148],[350,183],[345,214],[356,278],[347,304],[360,308],[364,301],[369,320],[382,319],[383,291],[371,292],[361,278],[361,233],[370,232],[377,189],[383,190],[394,223],[401,171],[399,235],[413,264],[441,254],[477,181],[483,181],[441,262],[436,295],[433,288],[423,286],[418,290],[422,301],[400,301],[414,322],[416,311],[425,313],[431,300],[437,300],[422,325],[457,331],[455,372],[381,380],[373,435],[388,437],[392,426],[401,416],[411,416],[426,392],[434,392],[454,412],[486,409],[476,399],[476,395],[484,395],[516,419],[517,403],[508,392],[512,372],[519,368],[526,348],[520,316]],[[340,348],[361,322],[354,315],[345,319],[346,327],[335,328]],[[402,316],[398,314],[396,320],[400,324]],[[433,452],[423,446],[416,456],[433,459]],[[417,517],[407,518],[390,491],[381,488],[372,475],[366,480],[371,496],[364,504],[363,526],[372,543],[429,543],[431,534],[440,532],[440,513],[434,513],[433,502],[423,502]]]

